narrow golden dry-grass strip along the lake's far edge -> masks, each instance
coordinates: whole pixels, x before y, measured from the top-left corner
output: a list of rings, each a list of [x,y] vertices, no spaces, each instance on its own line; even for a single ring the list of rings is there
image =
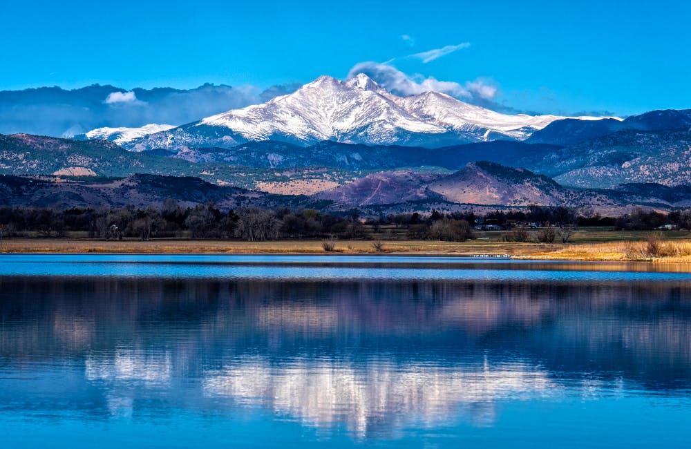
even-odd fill
[[[670,241],[671,242],[671,241]],[[663,245],[671,245],[663,242]],[[440,242],[433,240],[384,240],[378,251],[372,240],[338,240],[335,251],[325,251],[321,240],[3,240],[0,254],[280,254],[328,256],[457,256],[511,258],[516,260],[564,260],[583,262],[651,262],[690,264],[691,254],[643,255],[640,241],[519,243],[487,240]],[[678,246],[678,244],[677,244]],[[690,244],[691,247],[691,244]],[[677,250],[679,253],[679,251]],[[691,268],[690,268],[691,270]]]

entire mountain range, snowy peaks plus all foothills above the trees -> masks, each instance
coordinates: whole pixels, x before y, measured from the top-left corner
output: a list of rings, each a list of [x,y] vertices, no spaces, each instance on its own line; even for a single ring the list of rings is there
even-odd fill
[[[127,108],[147,95],[115,93]],[[0,202],[144,206],[171,197],[373,215],[531,204],[670,210],[691,206],[690,126],[691,110],[625,120],[507,115],[441,93],[399,97],[365,75],[319,77],[182,126],[0,135]]]

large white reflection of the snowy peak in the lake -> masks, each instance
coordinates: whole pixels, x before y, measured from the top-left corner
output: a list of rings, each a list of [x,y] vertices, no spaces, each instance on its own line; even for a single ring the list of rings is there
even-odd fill
[[[495,402],[546,397],[554,387],[547,372],[527,364],[468,368],[385,357],[275,364],[254,356],[207,372],[203,389],[209,397],[267,407],[309,426],[345,423],[365,436],[375,424],[394,431],[410,421],[426,428],[450,424],[463,409],[475,425],[491,426]]]

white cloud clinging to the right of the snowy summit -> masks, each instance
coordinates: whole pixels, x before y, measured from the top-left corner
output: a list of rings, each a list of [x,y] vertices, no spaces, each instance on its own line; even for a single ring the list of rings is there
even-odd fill
[[[441,92],[457,97],[468,102],[486,103],[493,100],[498,94],[498,88],[486,79],[475,79],[475,81],[460,84],[453,81],[440,81],[435,77],[425,77],[424,75],[406,75],[394,66],[381,64],[380,62],[361,62],[353,66],[348,73],[348,78],[352,78],[358,73],[364,73],[372,78],[391,93],[396,95],[418,95],[424,92]]]

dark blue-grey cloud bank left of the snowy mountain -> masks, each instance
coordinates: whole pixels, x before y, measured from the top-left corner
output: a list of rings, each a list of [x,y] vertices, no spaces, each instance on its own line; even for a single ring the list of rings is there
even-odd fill
[[[203,117],[266,102],[291,93],[288,84],[254,86],[204,84],[189,90],[86,86],[75,90],[42,87],[0,91],[0,133],[71,137],[103,126],[181,125]]]

